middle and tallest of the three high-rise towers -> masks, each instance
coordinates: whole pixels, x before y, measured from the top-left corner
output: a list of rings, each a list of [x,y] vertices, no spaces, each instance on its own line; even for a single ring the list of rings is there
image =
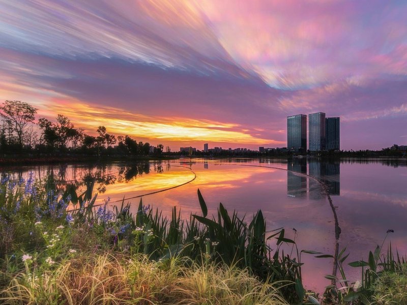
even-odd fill
[[[326,121],[324,112],[308,114],[309,150],[311,151],[325,150],[325,141],[326,141],[325,125]]]

